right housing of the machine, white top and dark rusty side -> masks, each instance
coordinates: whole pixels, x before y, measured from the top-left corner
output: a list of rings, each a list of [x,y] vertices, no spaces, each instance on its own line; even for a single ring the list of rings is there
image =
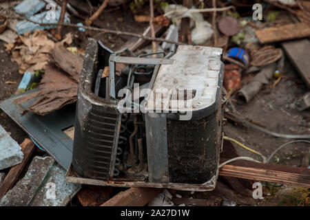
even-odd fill
[[[169,183],[210,184],[217,178],[223,117],[221,54],[220,48],[179,45],[172,56],[174,65],[161,65],[154,84],[151,81],[145,120],[149,175],[157,181],[166,180],[162,176],[167,168]],[[157,113],[165,120],[156,118]]]

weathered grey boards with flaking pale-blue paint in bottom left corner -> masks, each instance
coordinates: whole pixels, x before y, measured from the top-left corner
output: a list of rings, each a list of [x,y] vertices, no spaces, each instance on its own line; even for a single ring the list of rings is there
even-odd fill
[[[65,170],[52,157],[36,156],[0,206],[66,206],[80,189],[65,181]]]

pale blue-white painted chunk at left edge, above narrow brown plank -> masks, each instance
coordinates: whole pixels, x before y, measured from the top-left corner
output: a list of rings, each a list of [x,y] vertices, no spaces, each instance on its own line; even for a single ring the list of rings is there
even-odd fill
[[[21,146],[0,125],[0,170],[23,161]]]

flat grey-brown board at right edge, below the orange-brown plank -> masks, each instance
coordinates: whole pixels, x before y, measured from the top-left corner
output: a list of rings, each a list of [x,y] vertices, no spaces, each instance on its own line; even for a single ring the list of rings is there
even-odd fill
[[[289,61],[296,67],[296,70],[310,89],[310,41],[302,39],[282,43],[285,54]]]

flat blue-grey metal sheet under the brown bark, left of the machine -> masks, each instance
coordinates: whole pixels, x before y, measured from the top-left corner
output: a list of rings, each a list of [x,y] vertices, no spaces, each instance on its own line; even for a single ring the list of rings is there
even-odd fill
[[[65,170],[72,160],[73,140],[63,131],[74,125],[75,104],[69,104],[58,111],[48,115],[36,115],[32,112],[23,112],[33,100],[16,104],[14,100],[31,94],[36,89],[12,96],[0,102],[0,109],[14,120],[21,128],[33,138],[39,146],[45,149]]]

